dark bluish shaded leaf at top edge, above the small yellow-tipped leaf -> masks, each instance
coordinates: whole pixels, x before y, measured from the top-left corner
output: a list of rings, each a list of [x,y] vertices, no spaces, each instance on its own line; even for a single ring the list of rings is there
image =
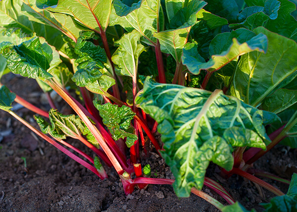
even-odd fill
[[[205,0],[207,5],[204,9],[226,18],[229,23],[235,22],[238,15],[238,6],[235,0]]]

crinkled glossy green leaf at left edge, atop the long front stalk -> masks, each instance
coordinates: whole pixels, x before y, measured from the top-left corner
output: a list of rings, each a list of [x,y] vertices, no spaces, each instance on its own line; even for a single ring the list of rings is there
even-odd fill
[[[34,38],[19,45],[0,43],[0,53],[7,59],[7,67],[14,74],[28,78],[50,79],[47,72],[56,67],[61,60],[55,49],[46,42]]]

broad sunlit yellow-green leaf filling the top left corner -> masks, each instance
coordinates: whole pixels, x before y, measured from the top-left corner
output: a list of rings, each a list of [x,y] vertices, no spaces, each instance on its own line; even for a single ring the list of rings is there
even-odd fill
[[[30,5],[34,3],[33,0],[25,2]],[[32,37],[33,33],[36,33],[37,36],[45,38],[50,45],[60,49],[64,45],[62,32],[49,22],[41,21],[43,15],[49,14],[36,14],[26,3],[23,0],[0,1],[0,27],[8,30],[20,29],[22,37]]]

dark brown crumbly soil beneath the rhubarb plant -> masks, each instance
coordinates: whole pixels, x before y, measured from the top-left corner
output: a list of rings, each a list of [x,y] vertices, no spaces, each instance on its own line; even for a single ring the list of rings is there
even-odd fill
[[[22,98],[43,109],[49,105],[43,99],[36,81],[15,75],[5,75],[2,83]],[[71,110],[57,99],[63,113]],[[18,115],[33,126],[34,113],[14,103]],[[67,140],[75,147],[94,156],[83,144]],[[26,161],[26,167],[24,164]],[[152,176],[173,178],[164,160],[152,152],[143,161],[149,163]],[[290,179],[297,172],[297,151],[277,146],[254,164],[255,169],[269,171]],[[0,211],[1,212],[217,212],[218,210],[199,198],[179,199],[172,186],[148,185],[146,190],[135,189],[126,196],[114,169],[105,168],[109,178],[100,180],[97,175],[79,165],[46,141],[37,138],[29,129],[0,111]],[[215,165],[207,170],[208,177],[219,182],[236,201],[248,210],[263,211],[259,203],[267,203],[275,195],[254,183],[233,175],[225,179]],[[267,180],[287,192],[288,185]],[[227,202],[207,187],[205,193],[224,205]]]

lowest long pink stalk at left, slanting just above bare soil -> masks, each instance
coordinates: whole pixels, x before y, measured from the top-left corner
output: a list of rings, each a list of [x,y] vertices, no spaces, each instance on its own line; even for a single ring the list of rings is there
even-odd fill
[[[70,158],[72,158],[73,160],[75,160],[76,162],[78,162],[79,164],[83,165],[84,167],[86,167],[87,169],[93,171],[96,175],[98,175],[101,179],[106,178],[106,176],[102,176],[99,174],[99,172],[97,171],[97,169],[93,166],[91,166],[90,164],[88,164],[87,162],[85,162],[84,160],[82,160],[81,158],[79,158],[78,156],[74,155],[72,152],[70,152],[69,150],[65,149],[63,146],[61,146],[60,144],[58,144],[56,141],[54,141],[53,139],[51,139],[49,136],[45,135],[44,133],[42,133],[41,131],[39,131],[38,129],[36,129],[35,127],[33,127],[32,125],[30,125],[28,122],[26,122],[24,119],[22,119],[21,117],[19,117],[17,114],[15,114],[12,111],[8,112],[10,115],[12,115],[14,118],[16,118],[18,121],[20,121],[22,124],[24,124],[26,127],[28,127],[29,129],[31,129],[33,132],[35,132],[37,135],[39,135],[40,137],[42,137],[43,139],[45,139],[46,141],[48,141],[50,144],[52,144],[54,147],[58,148],[60,151],[62,151],[64,154],[66,154],[67,156],[69,156]]]

